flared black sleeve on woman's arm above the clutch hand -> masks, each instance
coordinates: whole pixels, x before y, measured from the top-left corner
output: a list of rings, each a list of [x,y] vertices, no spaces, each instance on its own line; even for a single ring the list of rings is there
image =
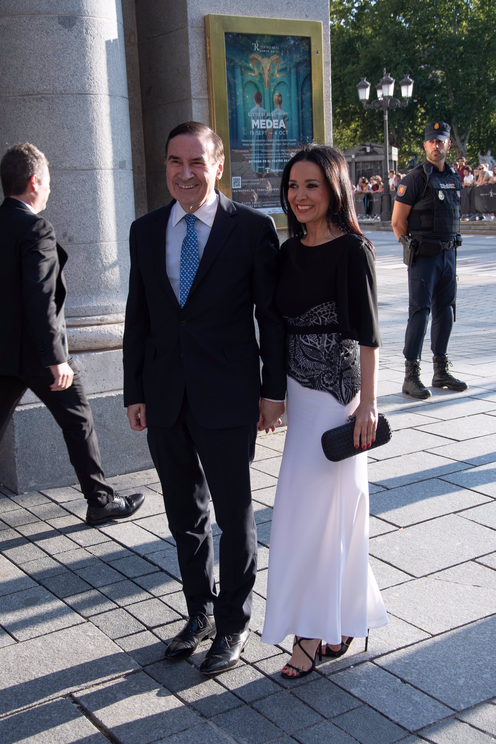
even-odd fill
[[[338,260],[336,296],[344,339],[358,341],[361,346],[381,346],[376,262],[372,249],[358,235],[350,235]]]

